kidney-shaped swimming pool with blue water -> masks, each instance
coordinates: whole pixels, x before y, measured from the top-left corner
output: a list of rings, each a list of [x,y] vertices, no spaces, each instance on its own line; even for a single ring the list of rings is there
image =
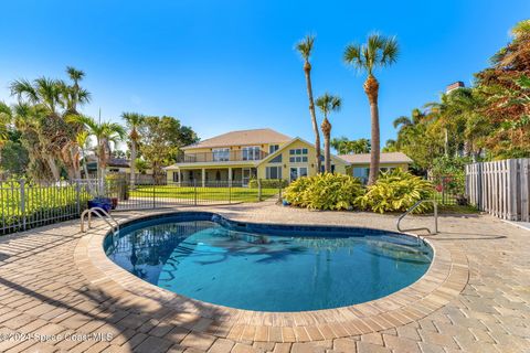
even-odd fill
[[[410,286],[432,248],[371,228],[239,223],[206,212],[135,221],[107,235],[107,256],[179,295],[237,309],[305,311],[351,306]]]

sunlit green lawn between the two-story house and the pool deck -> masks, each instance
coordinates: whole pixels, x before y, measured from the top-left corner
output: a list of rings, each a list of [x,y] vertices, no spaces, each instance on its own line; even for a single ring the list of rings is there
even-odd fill
[[[130,191],[130,197],[146,199],[184,199],[209,200],[226,202],[256,202],[257,189],[250,188],[201,188],[201,186],[176,186],[176,185],[139,185]],[[272,197],[278,193],[278,189],[262,189],[262,200]]]

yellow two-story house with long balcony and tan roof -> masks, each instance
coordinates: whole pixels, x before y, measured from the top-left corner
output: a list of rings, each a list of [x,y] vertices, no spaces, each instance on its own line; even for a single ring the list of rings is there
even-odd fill
[[[317,173],[312,143],[272,129],[232,131],[182,150],[184,153],[178,162],[166,168],[169,183],[205,185],[215,181],[232,181],[247,185],[252,179],[284,179],[290,182]],[[399,165],[393,162],[392,167]],[[331,157],[333,172],[352,174],[354,164],[349,158]],[[384,168],[384,163],[381,167]]]

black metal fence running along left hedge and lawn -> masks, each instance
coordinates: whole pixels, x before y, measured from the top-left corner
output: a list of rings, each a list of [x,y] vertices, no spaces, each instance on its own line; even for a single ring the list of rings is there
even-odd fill
[[[280,197],[286,182],[192,181],[188,183],[136,184],[128,179],[88,179],[35,183],[0,182],[0,234],[9,234],[77,218],[96,196],[112,200],[116,211],[173,206],[220,205]]]

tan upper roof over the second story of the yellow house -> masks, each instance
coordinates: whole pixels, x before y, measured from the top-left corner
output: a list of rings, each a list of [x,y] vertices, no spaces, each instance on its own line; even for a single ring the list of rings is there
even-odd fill
[[[199,141],[193,145],[183,147],[183,150],[195,148],[213,148],[213,147],[229,147],[239,145],[264,145],[264,143],[284,143],[290,141],[292,138],[279,133],[273,129],[253,129],[231,131],[223,135]]]

